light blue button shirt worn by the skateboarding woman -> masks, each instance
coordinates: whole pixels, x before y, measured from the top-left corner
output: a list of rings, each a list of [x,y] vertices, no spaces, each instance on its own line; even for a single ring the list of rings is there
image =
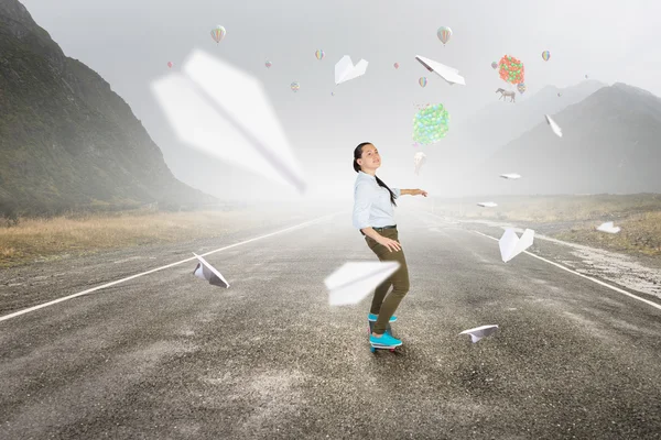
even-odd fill
[[[399,198],[401,190],[390,189]],[[375,176],[358,172],[354,185],[354,228],[383,228],[393,224],[394,207],[390,202],[390,193],[377,184]]]

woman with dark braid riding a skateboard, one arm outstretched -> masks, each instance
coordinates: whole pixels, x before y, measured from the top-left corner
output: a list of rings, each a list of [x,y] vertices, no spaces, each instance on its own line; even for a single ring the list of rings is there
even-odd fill
[[[364,142],[354,150],[354,170],[358,173],[354,187],[354,227],[365,235],[365,241],[380,261],[397,261],[400,267],[375,290],[370,314],[367,319],[377,321],[369,340],[382,345],[401,345],[402,341],[386,332],[388,322],[394,322],[400,301],[409,292],[409,268],[404,251],[398,240],[394,223],[394,199],[404,196],[427,196],[422,189],[390,189],[377,177],[381,156],[376,146]],[[390,286],[392,292],[386,294]]]

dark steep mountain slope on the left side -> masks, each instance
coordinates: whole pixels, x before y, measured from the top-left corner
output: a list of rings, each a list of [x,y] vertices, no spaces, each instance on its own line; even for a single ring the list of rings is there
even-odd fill
[[[178,182],[130,107],[0,0],[0,215],[216,201]]]

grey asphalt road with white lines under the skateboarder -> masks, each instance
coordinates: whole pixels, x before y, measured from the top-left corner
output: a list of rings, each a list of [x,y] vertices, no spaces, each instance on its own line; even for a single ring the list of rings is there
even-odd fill
[[[208,255],[229,289],[187,262],[0,321],[0,439],[661,439],[661,310],[399,210],[403,345],[372,354],[369,299],[323,284],[376,260],[347,216]],[[0,316],[303,221],[8,270]]]

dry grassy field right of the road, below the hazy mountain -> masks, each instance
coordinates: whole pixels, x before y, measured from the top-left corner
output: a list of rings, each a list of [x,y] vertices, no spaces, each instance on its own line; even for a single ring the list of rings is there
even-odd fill
[[[479,201],[494,201],[481,208]],[[534,229],[549,227],[560,240],[629,254],[661,256],[661,195],[588,195],[492,197],[434,200],[437,213],[464,219],[511,221]],[[599,232],[596,227],[613,221],[621,231]],[[543,229],[543,228],[542,228]]]

